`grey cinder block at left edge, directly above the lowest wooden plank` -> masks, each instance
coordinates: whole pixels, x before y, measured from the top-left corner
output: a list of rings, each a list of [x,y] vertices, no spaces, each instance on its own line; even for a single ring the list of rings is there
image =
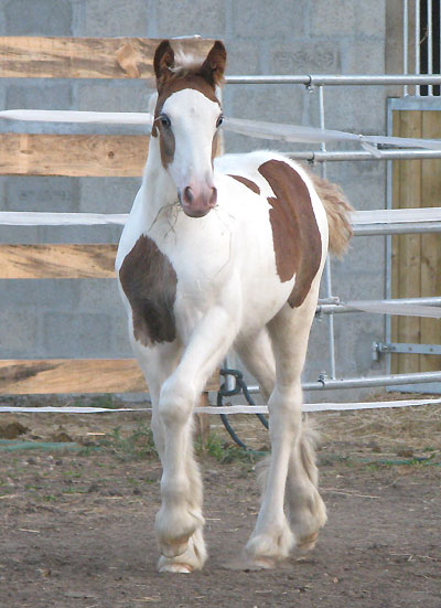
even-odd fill
[[[37,350],[39,311],[34,306],[28,309],[4,308],[0,323],[0,358],[20,359],[33,356]]]

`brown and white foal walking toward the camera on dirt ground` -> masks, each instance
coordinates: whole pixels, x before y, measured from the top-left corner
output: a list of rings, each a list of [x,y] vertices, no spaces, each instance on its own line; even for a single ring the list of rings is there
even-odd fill
[[[225,63],[222,42],[193,65],[180,65],[169,41],[158,46],[149,157],[116,262],[163,467],[161,572],[192,572],[207,556],[192,414],[232,348],[270,413],[271,458],[248,559],[271,567],[294,547],[312,548],[326,521],[300,375],[329,241],[336,253],[345,248],[349,207],[335,186],[281,154],[214,158]]]

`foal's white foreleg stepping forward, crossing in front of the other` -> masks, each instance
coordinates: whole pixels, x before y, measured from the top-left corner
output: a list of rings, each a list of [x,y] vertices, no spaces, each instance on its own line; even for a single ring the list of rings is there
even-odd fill
[[[193,409],[235,334],[230,314],[222,307],[212,309],[192,332],[180,364],[161,388],[158,413],[164,429],[162,504],[155,521],[163,556],[161,569],[191,572],[202,567],[202,563],[184,564],[179,558],[189,551],[189,540],[192,543],[202,534],[204,525],[202,486],[194,483],[198,473],[192,452]]]

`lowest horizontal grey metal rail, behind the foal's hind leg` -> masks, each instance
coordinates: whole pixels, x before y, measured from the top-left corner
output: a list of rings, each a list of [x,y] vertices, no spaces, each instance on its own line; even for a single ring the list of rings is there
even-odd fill
[[[325,376],[316,382],[302,384],[303,391],[336,391],[340,388],[369,388],[373,386],[395,386],[401,384],[423,384],[426,382],[441,382],[441,372],[422,372],[418,374],[390,374],[372,377],[352,377],[331,380]],[[258,386],[248,386],[249,393],[259,393]]]

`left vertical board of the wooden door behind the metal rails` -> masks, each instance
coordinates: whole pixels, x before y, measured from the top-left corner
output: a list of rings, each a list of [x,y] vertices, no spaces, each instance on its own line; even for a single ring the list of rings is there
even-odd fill
[[[421,111],[400,113],[401,137],[421,137]],[[421,161],[401,161],[399,207],[421,206]],[[399,298],[418,298],[421,295],[421,235],[399,235]],[[420,342],[420,319],[418,317],[400,317],[398,320],[398,342]],[[415,354],[399,355],[399,372],[412,373],[419,371],[419,358]]]

